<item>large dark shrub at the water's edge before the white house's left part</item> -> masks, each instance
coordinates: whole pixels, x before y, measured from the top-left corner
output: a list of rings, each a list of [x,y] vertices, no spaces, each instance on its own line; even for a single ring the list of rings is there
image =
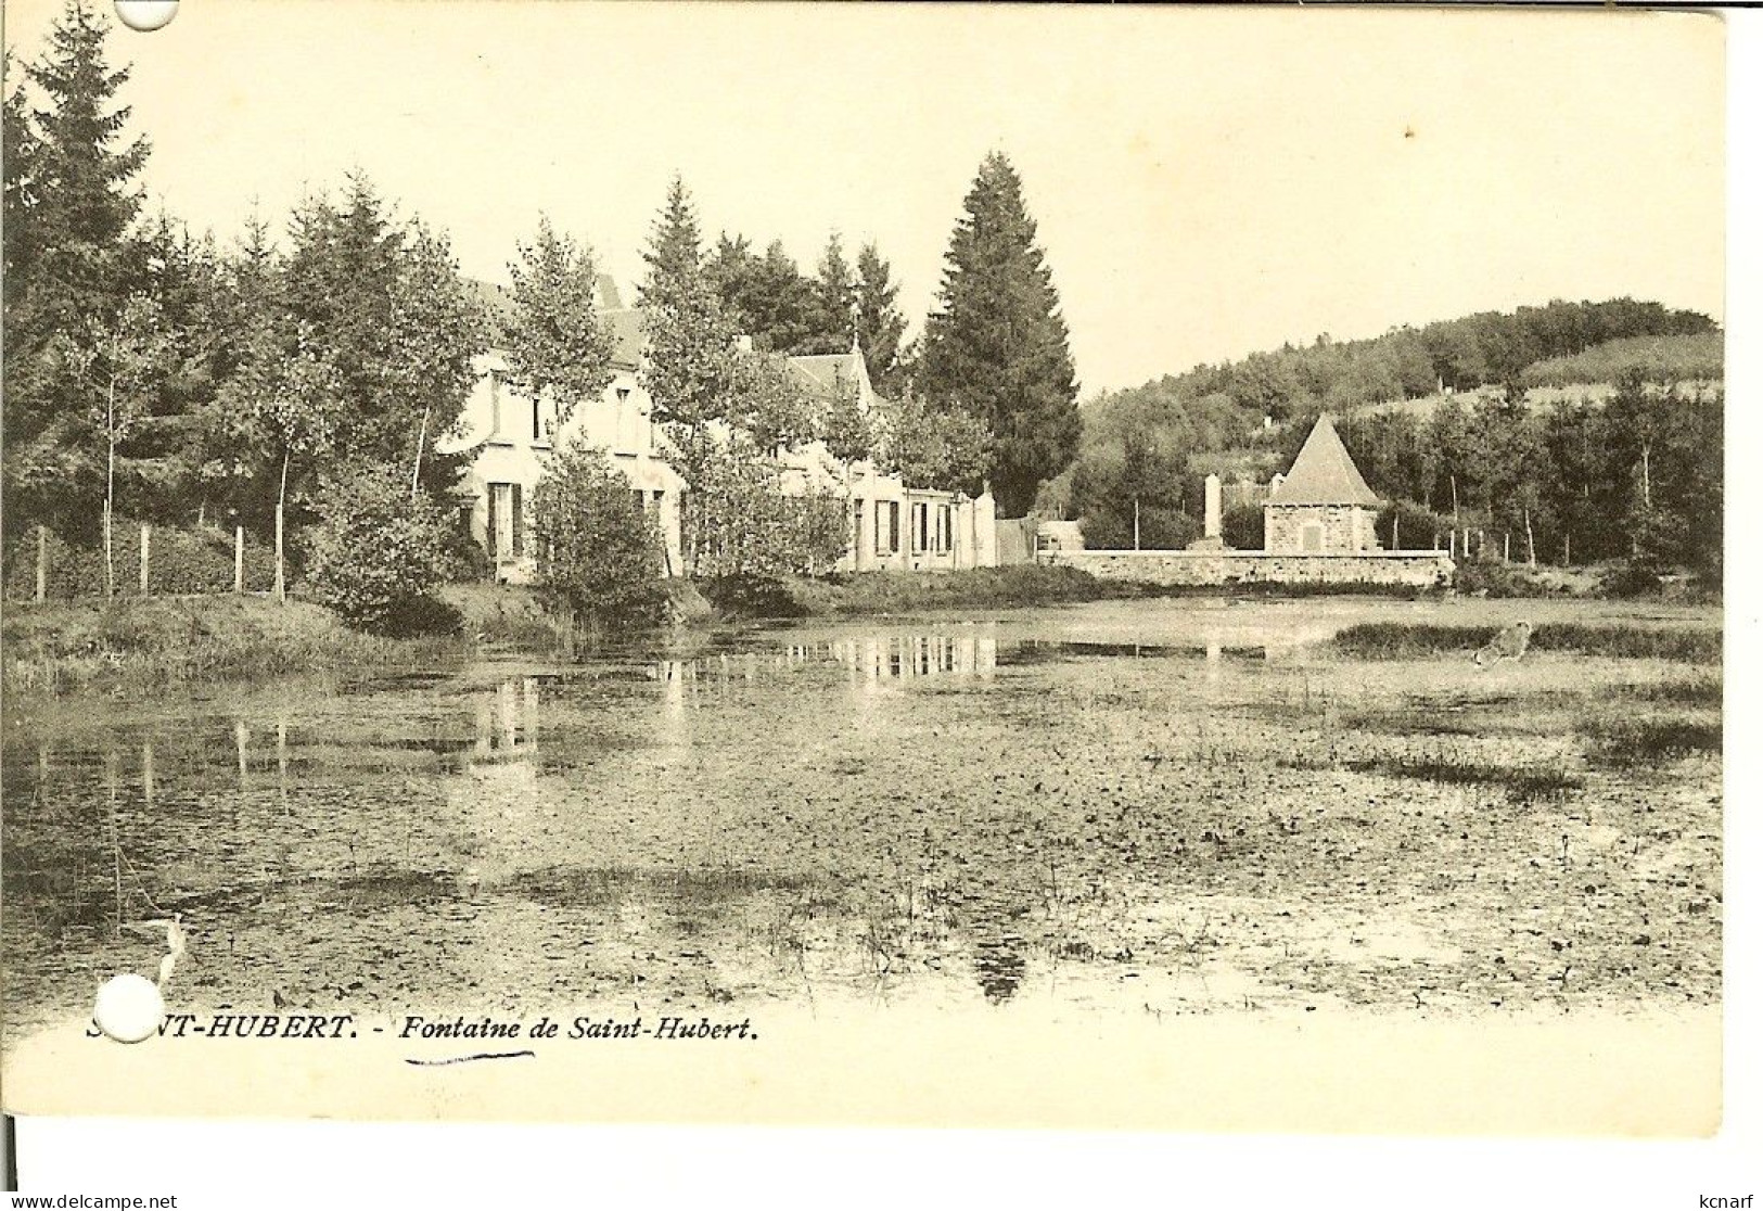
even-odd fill
[[[539,583],[577,620],[654,626],[666,605],[661,531],[605,449],[552,451],[532,492]]]

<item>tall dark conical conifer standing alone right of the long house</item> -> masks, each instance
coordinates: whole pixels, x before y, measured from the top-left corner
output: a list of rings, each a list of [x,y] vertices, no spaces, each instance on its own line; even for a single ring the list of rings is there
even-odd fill
[[[1053,273],[1010,160],[993,152],[948,241],[917,386],[991,432],[991,483],[1005,516],[1077,453],[1077,381]]]

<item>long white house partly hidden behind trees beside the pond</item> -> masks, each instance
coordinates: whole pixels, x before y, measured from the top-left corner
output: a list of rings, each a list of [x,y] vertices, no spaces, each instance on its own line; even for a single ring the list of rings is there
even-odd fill
[[[508,293],[480,284],[490,314],[506,317]],[[652,400],[638,377],[642,317],[619,298],[610,277],[599,279],[599,307],[614,331],[614,377],[599,400],[575,409],[559,427],[555,409],[517,395],[504,381],[508,360],[490,349],[480,358],[480,379],[465,402],[457,434],[441,442],[444,453],[471,451],[458,492],[460,520],[495,566],[495,578],[525,582],[534,575],[529,502],[554,444],[577,434],[603,446],[631,481],[645,509],[661,525],[663,575],[684,573],[681,562],[681,492],[684,481],[663,457],[666,437],[652,416]],[[857,390],[859,407],[874,405],[874,390],[862,353],[790,358],[811,391]],[[991,568],[998,562],[994,511],[989,494],[978,499],[931,488],[908,488],[899,476],[869,462],[846,467],[815,442],[785,458],[783,490],[846,495],[852,539],[839,566],[846,571],[878,568],[954,569]]]

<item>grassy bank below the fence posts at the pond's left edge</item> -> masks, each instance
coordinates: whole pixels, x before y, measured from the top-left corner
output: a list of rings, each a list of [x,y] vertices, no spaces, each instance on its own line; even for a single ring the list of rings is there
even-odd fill
[[[169,598],[7,606],[0,687],[12,695],[152,693],[212,680],[372,672],[458,659],[457,638],[388,640],[323,606]]]

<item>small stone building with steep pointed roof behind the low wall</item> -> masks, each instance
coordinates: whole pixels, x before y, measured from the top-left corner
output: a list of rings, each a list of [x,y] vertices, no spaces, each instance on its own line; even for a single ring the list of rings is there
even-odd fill
[[[1354,555],[1375,552],[1377,494],[1324,412],[1262,504],[1269,555]]]

